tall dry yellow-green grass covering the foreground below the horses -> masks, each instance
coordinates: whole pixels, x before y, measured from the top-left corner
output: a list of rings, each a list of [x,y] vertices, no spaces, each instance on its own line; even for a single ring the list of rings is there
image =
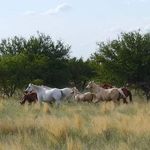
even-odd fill
[[[150,104],[0,101],[0,150],[149,150]]]

